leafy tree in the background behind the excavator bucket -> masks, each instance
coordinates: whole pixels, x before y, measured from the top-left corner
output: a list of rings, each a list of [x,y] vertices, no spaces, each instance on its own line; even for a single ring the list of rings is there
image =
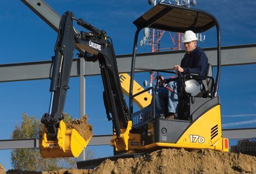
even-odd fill
[[[71,121],[72,117],[64,114],[66,121]],[[43,125],[36,119],[35,116],[22,114],[22,123],[16,125],[12,132],[13,139],[21,138],[37,138],[39,131],[43,131]],[[93,150],[86,150],[86,157],[91,159],[94,156]],[[11,152],[12,166],[14,169],[29,170],[29,171],[52,171],[61,168],[71,168],[76,166],[77,158],[55,158],[44,159],[40,154],[39,149],[15,149]]]

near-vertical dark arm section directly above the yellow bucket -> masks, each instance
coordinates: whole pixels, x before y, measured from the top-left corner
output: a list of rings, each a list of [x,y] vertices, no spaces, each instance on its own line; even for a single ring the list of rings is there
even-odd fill
[[[66,99],[68,81],[72,67],[75,49],[75,38],[72,13],[65,13],[61,18],[60,29],[54,47],[51,73],[51,102],[49,112],[45,113],[41,122],[45,125],[47,134],[56,136],[57,128],[63,119],[63,109]]]

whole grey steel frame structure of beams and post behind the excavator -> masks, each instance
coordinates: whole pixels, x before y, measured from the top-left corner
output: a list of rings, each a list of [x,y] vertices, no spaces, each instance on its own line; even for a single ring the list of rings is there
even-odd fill
[[[61,17],[44,1],[21,1],[31,8],[33,12],[40,16],[55,31],[58,30],[58,23],[60,22]],[[76,49],[81,51],[81,48]],[[216,66],[216,62],[214,61],[216,58],[216,51],[214,50],[216,50],[216,48],[205,48],[204,50],[209,57],[209,63]],[[222,47],[221,64],[222,66],[254,64],[256,63],[255,52],[256,44]],[[171,70],[170,67],[172,67],[175,62],[179,62],[183,54],[184,50],[141,53],[137,54],[137,58],[139,59],[137,59],[136,63],[137,66],[143,67],[145,66],[144,62],[151,62],[152,67],[150,68],[152,69]],[[131,64],[132,55],[119,55],[116,57],[120,72],[130,72],[130,68],[126,65]],[[170,57],[172,57],[171,60]],[[0,64],[0,82],[47,79],[50,67],[51,61]],[[83,58],[73,60],[71,77],[80,77],[81,117],[85,114],[85,77],[99,74],[99,66],[97,66],[96,63],[85,62]],[[256,128],[223,129],[222,133],[223,137],[229,139],[252,138],[256,135]],[[112,135],[93,136],[89,145],[109,145],[111,137]],[[0,149],[37,147],[38,139],[36,138],[0,140]]]

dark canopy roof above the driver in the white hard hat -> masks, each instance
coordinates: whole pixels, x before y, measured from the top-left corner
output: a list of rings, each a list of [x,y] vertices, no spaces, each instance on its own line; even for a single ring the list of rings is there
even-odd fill
[[[155,28],[166,31],[206,31],[218,23],[215,17],[202,10],[159,3],[133,21],[137,28]]]

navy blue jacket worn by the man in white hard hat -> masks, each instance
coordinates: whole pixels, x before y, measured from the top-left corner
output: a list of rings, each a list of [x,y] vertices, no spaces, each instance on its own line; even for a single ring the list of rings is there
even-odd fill
[[[200,47],[196,47],[190,53],[186,52],[183,59],[181,60],[181,68],[184,69],[182,72],[185,74],[198,74],[198,75],[206,75],[208,64],[208,57],[205,55],[204,51]],[[178,78],[174,79],[166,79],[166,83],[170,81],[178,80]],[[201,82],[199,80],[199,82]]]

